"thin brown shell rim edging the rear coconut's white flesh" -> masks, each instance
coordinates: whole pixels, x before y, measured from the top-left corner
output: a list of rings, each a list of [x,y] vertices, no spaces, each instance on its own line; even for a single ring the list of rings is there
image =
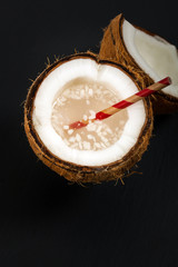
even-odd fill
[[[128,51],[127,46],[125,43],[123,33],[122,33],[123,32],[122,26],[123,26],[123,22],[125,22],[126,19],[125,19],[122,13],[120,13],[118,16],[118,20],[119,20],[118,21],[119,22],[119,34],[120,34],[120,39],[122,41],[122,46],[123,46],[125,50],[127,51],[127,53],[130,57],[130,59],[134,62],[134,65],[139,69],[139,71],[146,73],[145,70],[141,69],[140,66],[136,62],[135,58],[130,55],[130,52]],[[138,29],[138,30],[140,30],[140,31],[142,31],[142,32],[145,32],[145,33],[147,33],[147,34],[149,34],[151,37],[158,37],[158,38],[162,39],[165,42],[170,43],[166,39],[164,39],[162,37],[158,36],[158,34],[156,34],[156,33],[154,33],[154,32],[151,32],[151,31],[149,31],[147,29],[144,29],[144,28],[141,28],[139,26],[136,26],[136,24],[132,24],[132,23],[131,23],[131,26],[134,26],[136,29]],[[177,49],[177,51],[178,51],[178,49]],[[154,83],[155,80],[148,73],[146,73],[146,75],[149,77],[151,83]],[[148,86],[149,86],[149,83],[148,83]],[[157,91],[156,93],[159,95],[160,97],[164,97],[168,101],[171,101],[171,102],[175,102],[175,103],[177,103],[177,101],[178,101],[178,98],[171,96],[170,93],[164,92],[162,90],[161,91]]]

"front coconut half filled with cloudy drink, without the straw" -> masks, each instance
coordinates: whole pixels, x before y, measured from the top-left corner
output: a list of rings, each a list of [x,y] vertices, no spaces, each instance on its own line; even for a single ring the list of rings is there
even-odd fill
[[[141,90],[141,81],[134,78],[134,73],[125,67],[99,60],[89,52],[62,58],[48,67],[33,81],[24,105],[24,129],[36,155],[71,181],[100,182],[128,174],[140,160],[151,136],[149,98],[125,110],[125,123],[119,136],[121,112],[118,112],[121,117],[111,116],[111,122],[108,118],[72,132],[68,125],[87,116],[80,106],[83,102],[90,110],[91,102],[97,101],[92,107],[97,112],[100,105],[108,107],[115,100],[112,98],[121,100]],[[72,106],[73,102],[76,106]]]

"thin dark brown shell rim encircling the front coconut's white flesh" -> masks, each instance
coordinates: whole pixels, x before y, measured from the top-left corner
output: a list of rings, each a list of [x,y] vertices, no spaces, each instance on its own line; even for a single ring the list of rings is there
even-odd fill
[[[60,166],[60,168],[63,168],[66,170],[70,169],[72,171],[80,171],[83,170],[83,172],[93,172],[93,171],[100,171],[103,170],[106,168],[115,168],[118,165],[121,167],[122,165],[126,165],[127,161],[129,161],[130,157],[132,156],[134,150],[139,150],[139,140],[140,138],[144,138],[148,131],[148,129],[152,126],[152,110],[151,110],[151,102],[149,97],[148,98],[144,98],[144,106],[145,106],[145,111],[146,111],[146,119],[144,122],[144,126],[140,130],[140,134],[138,136],[138,139],[136,141],[136,144],[130,148],[130,150],[119,160],[116,160],[113,162],[107,164],[107,165],[101,165],[101,166],[85,166],[85,165],[78,165],[78,164],[73,164],[71,161],[67,161],[63,159],[60,159],[59,157],[57,157],[56,155],[53,155],[42,142],[42,140],[40,139],[38,132],[34,129],[33,122],[32,122],[32,112],[33,112],[33,103],[34,103],[34,98],[36,98],[36,93],[38,91],[39,86],[41,85],[41,82],[46,79],[46,77],[53,71],[56,68],[58,68],[59,66],[61,66],[62,63],[70,61],[70,60],[75,60],[78,58],[89,58],[95,60],[97,63],[100,65],[108,65],[108,66],[112,66],[118,68],[119,70],[121,70],[122,72],[125,72],[136,85],[137,89],[140,91],[141,90],[141,83],[139,85],[139,81],[135,80],[135,77],[132,73],[130,73],[126,67],[109,61],[109,60],[99,60],[98,57],[91,52],[82,52],[82,53],[76,53],[76,55],[71,55],[71,56],[67,56],[63,57],[59,60],[56,60],[52,65],[48,66],[47,69],[44,69],[38,77],[37,79],[32,82],[29,91],[28,91],[28,96],[27,96],[27,100],[24,103],[24,125],[27,123],[29,126],[29,130],[27,132],[28,138],[29,134],[31,135],[31,137],[33,138],[33,141],[36,144],[36,147],[38,146],[38,149],[41,150],[42,157],[47,158],[48,160],[51,161],[52,165],[56,166]],[[26,128],[26,126],[24,126]]]

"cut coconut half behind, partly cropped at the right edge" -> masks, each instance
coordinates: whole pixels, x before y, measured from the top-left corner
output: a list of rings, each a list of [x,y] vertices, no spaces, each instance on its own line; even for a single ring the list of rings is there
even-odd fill
[[[164,38],[132,26],[119,14],[105,30],[99,57],[135,69],[136,78],[142,79],[142,87],[171,77],[172,85],[151,97],[154,111],[178,111],[178,52]]]

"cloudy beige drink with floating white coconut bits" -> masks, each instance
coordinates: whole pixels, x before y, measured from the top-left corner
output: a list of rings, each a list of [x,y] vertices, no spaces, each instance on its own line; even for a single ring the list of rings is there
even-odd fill
[[[67,146],[79,150],[99,150],[120,138],[128,120],[126,109],[87,127],[69,129],[71,122],[92,119],[96,112],[121,100],[118,93],[108,88],[106,83],[78,78],[68,82],[56,97],[51,122]]]

